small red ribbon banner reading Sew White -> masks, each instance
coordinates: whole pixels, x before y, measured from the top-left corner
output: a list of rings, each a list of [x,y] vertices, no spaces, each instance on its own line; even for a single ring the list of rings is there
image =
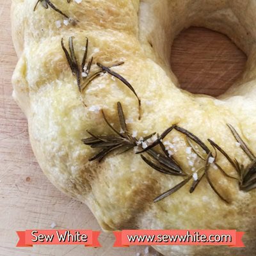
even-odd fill
[[[100,231],[92,230],[26,230],[17,231],[16,247],[32,247],[38,244],[83,244],[86,247],[101,247]]]

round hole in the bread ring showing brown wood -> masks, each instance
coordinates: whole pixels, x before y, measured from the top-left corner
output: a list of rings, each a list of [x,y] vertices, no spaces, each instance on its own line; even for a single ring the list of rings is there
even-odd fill
[[[217,97],[239,82],[247,57],[227,36],[205,28],[182,31],[172,45],[171,65],[180,87]]]

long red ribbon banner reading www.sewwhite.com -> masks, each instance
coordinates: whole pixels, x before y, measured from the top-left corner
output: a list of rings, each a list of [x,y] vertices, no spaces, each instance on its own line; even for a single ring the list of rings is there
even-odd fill
[[[113,247],[131,245],[227,245],[244,247],[244,232],[236,230],[123,230],[113,232]]]

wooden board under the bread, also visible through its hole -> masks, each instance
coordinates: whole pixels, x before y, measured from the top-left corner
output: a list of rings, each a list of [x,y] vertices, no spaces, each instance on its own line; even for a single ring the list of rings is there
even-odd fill
[[[145,255],[142,246],[112,248],[113,235],[104,233],[99,238],[102,248],[15,248],[16,230],[49,229],[52,223],[63,229],[100,230],[100,227],[86,205],[52,186],[33,155],[26,118],[12,99],[11,77],[17,57],[11,38],[10,4],[10,0],[0,3],[0,255],[135,256],[138,252]],[[223,86],[236,79],[246,60],[225,36],[198,28],[190,29],[175,41],[172,58],[182,88],[212,95],[222,93]],[[227,62],[231,63],[228,69]],[[150,252],[150,255],[156,253],[152,248]]]

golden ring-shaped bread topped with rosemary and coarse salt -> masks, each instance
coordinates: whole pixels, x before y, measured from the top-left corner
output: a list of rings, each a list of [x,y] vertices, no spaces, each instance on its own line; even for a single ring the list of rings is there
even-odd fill
[[[164,255],[255,255],[256,1],[35,4],[12,1],[13,97],[51,182],[107,231],[245,232],[246,248],[156,247]],[[248,55],[219,99],[180,90],[170,69],[173,38],[189,26]]]

